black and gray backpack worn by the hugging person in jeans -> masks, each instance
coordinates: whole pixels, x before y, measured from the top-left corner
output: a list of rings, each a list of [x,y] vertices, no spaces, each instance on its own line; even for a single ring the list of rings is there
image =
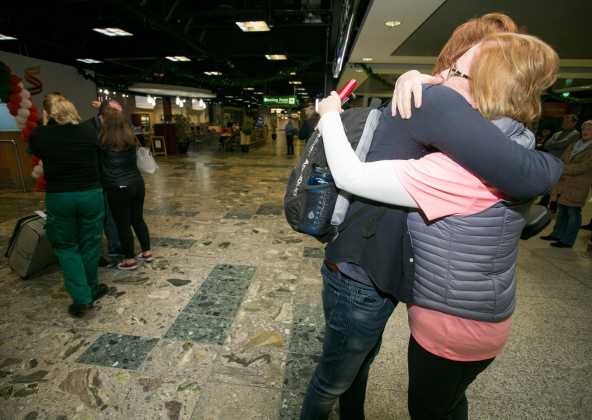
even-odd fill
[[[341,113],[347,139],[362,161],[366,160],[380,116],[381,111],[374,108],[350,108]],[[290,173],[284,195],[284,213],[295,231],[311,235],[323,243],[331,242],[337,237],[337,227],[345,218],[350,197],[337,189],[330,176],[322,186],[310,185],[313,169],[330,172],[323,140],[316,130],[307,140],[298,165]],[[313,189],[315,194],[311,194]],[[318,209],[320,216],[317,214],[319,217],[313,219],[314,214],[307,211],[310,208]]]

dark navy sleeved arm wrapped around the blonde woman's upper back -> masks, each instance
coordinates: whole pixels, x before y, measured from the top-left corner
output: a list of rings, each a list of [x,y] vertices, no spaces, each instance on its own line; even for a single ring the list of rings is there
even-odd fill
[[[457,92],[424,86],[423,105],[406,120],[411,136],[433,146],[509,198],[527,200],[557,183],[563,163],[509,140]]]

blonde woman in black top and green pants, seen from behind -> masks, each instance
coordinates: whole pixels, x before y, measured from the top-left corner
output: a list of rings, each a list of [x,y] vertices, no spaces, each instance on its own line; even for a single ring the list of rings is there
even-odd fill
[[[33,130],[29,147],[43,161],[47,238],[73,300],[68,312],[79,318],[109,291],[98,282],[105,206],[97,132],[93,120],[80,123],[78,111],[62,95],[45,97],[43,120],[46,125]]]

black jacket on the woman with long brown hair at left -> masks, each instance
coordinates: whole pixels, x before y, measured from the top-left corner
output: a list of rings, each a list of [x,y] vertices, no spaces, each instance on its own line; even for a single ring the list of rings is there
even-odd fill
[[[101,183],[106,190],[113,190],[142,181],[136,163],[137,148],[123,151],[101,148]]]

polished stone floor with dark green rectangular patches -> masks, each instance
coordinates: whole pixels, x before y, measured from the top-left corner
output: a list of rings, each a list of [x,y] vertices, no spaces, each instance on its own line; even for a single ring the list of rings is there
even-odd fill
[[[145,205],[157,258],[101,269],[116,289],[83,320],[66,313],[59,271],[23,281],[2,257],[0,419],[297,418],[321,348],[323,250],[282,216],[294,162],[282,135],[249,154],[159,158]],[[0,243],[42,200],[0,192]],[[592,418],[589,236],[569,250],[522,244],[512,337],[469,392],[472,419]],[[408,334],[400,306],[368,419],[408,418]]]

